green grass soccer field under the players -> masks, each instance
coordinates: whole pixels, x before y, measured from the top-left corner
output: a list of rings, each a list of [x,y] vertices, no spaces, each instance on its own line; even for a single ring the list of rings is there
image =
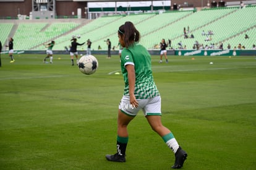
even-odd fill
[[[93,75],[68,55],[44,57],[1,55],[0,169],[171,169],[174,154],[142,112],[129,125],[127,162],[105,159],[116,152],[118,56],[96,56]],[[255,56],[168,57],[152,56],[152,69],[163,124],[189,155],[182,169],[256,169]]]

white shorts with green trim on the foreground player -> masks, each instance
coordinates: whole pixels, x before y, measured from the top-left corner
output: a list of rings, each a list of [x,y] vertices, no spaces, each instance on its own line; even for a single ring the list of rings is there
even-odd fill
[[[162,115],[160,96],[148,99],[138,99],[137,101],[139,102],[139,106],[138,108],[134,108],[130,104],[130,97],[122,96],[122,99],[119,103],[119,109],[122,111],[122,113],[127,114],[129,116],[136,116],[140,109],[142,109],[145,116]]]

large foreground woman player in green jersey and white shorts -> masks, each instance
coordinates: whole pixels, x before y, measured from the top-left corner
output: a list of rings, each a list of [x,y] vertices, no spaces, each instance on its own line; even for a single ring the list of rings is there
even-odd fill
[[[151,56],[147,49],[139,44],[140,33],[132,22],[126,22],[119,27],[117,35],[124,47],[121,54],[121,70],[125,87],[117,118],[117,153],[106,155],[106,159],[116,162],[126,161],[126,146],[129,138],[127,126],[142,109],[151,128],[175,153],[172,168],[181,168],[187,153],[179,147],[172,132],[161,123],[161,97],[153,81]]]

